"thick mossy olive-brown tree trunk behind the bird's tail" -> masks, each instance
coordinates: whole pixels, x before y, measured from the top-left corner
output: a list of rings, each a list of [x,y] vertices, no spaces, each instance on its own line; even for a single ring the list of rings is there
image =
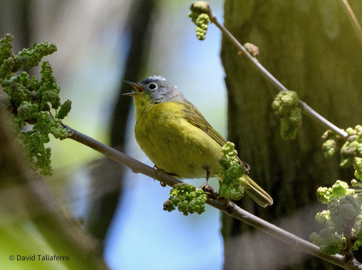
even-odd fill
[[[357,0],[350,2],[358,18],[362,7]],[[257,45],[261,64],[301,100],[340,128],[362,123],[362,46],[342,1],[226,0],[224,17],[237,40]],[[306,115],[296,140],[283,140],[271,111],[278,90],[226,37],[221,58],[228,89],[228,139],[251,166],[250,176],[274,199],[273,206],[263,209],[245,196],[241,206],[308,239],[320,229],[314,220],[323,209],[316,203],[317,187],[329,187],[337,179],[348,182],[353,170],[341,170],[337,158],[324,158],[321,135],[326,128]],[[224,269],[333,269],[265,234],[250,232],[227,215],[222,222]]]

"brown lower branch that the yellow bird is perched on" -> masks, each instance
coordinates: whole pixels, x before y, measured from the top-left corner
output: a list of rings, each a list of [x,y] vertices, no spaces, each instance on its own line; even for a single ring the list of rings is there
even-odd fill
[[[161,183],[167,184],[170,187],[172,187],[174,184],[182,183],[181,180],[178,180],[168,174],[157,174],[156,173],[157,170],[155,170],[154,168],[134,158],[131,158],[128,155],[120,151],[117,151],[108,145],[105,145],[97,140],[94,140],[93,138],[88,137],[87,135],[80,133],[75,129],[72,129],[69,126],[64,125],[64,127],[69,129],[73,133],[73,135],[70,137],[72,140],[80,142],[81,144],[84,144],[106,155],[107,157],[114,159],[115,161],[123,163],[124,165],[129,167],[134,173],[142,173],[144,175],[150,176],[152,179],[156,179]],[[345,263],[343,257],[339,254],[333,256],[325,255],[320,251],[318,246],[306,240],[303,240],[302,238],[299,238],[298,236],[295,236],[294,234],[289,233],[286,230],[283,230],[271,223],[268,223],[267,221],[262,220],[257,216],[252,215],[251,213],[245,211],[244,209],[241,209],[236,204],[233,204],[231,202],[225,203],[225,199],[222,198],[208,199],[206,203],[227,213],[232,217],[235,217],[236,219],[239,219],[253,226],[254,228],[260,229],[263,232],[268,233],[269,235],[279,240],[282,240],[283,242],[286,242],[296,250],[312,254],[313,256],[322,258],[335,265],[341,266],[344,269],[362,270],[362,266],[357,260],[354,259],[351,262]]]

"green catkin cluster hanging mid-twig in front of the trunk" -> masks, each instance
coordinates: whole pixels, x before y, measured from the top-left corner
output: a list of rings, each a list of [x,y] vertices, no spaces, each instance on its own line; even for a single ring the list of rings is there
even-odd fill
[[[302,110],[298,107],[298,94],[294,91],[280,91],[271,107],[281,119],[281,134],[286,140],[294,140],[302,126]]]

